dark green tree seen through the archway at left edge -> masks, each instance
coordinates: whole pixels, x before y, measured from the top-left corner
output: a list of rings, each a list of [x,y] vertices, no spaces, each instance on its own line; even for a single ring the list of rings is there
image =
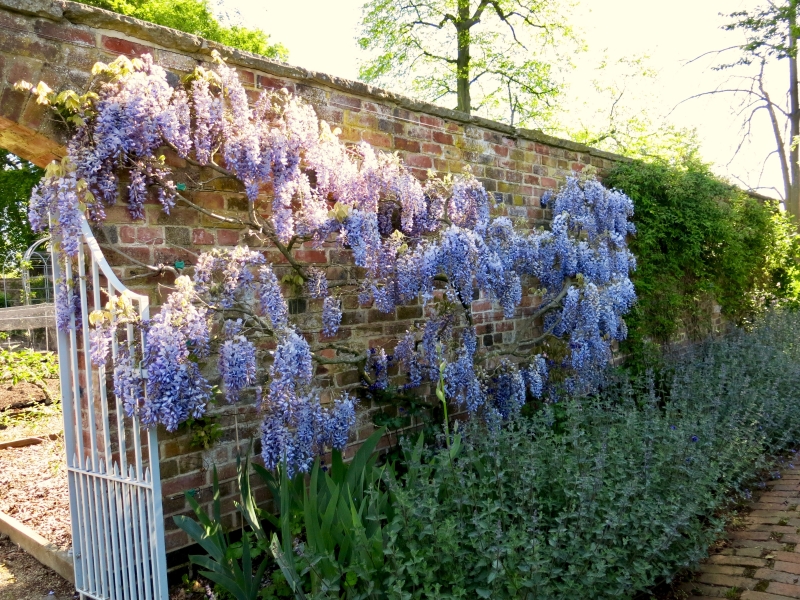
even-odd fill
[[[0,150],[0,260],[9,252],[24,252],[39,234],[28,223],[28,200],[44,170]]]

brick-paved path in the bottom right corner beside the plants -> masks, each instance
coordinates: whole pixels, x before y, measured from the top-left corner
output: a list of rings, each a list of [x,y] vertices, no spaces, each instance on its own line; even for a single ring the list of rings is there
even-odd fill
[[[701,565],[681,588],[692,600],[800,598],[800,469],[770,482],[730,534],[730,545]]]

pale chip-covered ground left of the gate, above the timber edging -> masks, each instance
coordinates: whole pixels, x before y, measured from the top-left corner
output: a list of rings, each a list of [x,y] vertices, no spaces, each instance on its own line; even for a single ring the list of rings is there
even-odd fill
[[[0,511],[62,550],[72,545],[63,438],[0,450]]]

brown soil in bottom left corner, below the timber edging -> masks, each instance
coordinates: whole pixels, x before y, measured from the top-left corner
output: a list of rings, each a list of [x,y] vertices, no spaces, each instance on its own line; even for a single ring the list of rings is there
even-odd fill
[[[73,600],[72,584],[0,536],[0,600]]]

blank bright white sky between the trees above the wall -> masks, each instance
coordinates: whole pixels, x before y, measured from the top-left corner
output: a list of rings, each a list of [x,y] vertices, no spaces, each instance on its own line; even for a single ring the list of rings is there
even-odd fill
[[[363,0],[219,0],[228,11],[238,12],[241,22],[260,27],[274,41],[289,48],[291,64],[355,79],[360,50],[355,42]],[[589,51],[575,57],[584,66],[573,76],[581,89],[586,67],[606,53],[609,58],[648,55],[659,76],[646,92],[654,112],[671,113],[678,126],[696,128],[703,157],[716,170],[735,181],[757,187],[782,189],[778,163],[773,156],[761,175],[765,157],[773,147],[769,122],[756,120],[753,140],[733,159],[741,139],[739,121],[731,114],[736,103],[729,96],[682,100],[713,89],[727,75],[710,69],[715,59],[685,63],[705,52],[731,46],[737,34],[720,30],[730,13],[760,4],[758,0],[577,0],[572,24],[582,31]],[[238,19],[237,19],[238,20]],[[777,76],[782,77],[782,72]],[[780,83],[780,80],[777,80]],[[776,86],[785,92],[786,87]],[[674,111],[672,110],[673,108]],[[733,159],[733,161],[732,161]],[[732,161],[732,162],[731,162]],[[760,182],[759,182],[760,180]],[[768,189],[761,190],[774,195]]]

